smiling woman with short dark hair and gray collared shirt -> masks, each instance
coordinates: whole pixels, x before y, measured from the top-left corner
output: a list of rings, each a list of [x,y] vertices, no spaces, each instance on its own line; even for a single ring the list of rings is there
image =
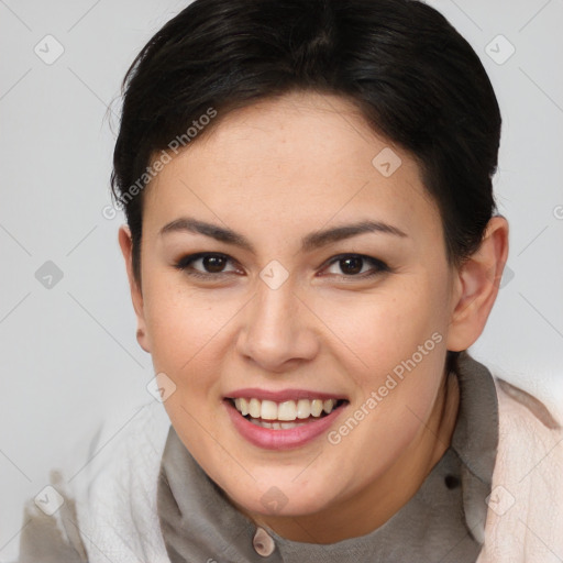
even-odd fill
[[[169,21],[112,174],[158,401],[52,474],[20,560],[561,561],[560,422],[466,353],[508,254],[500,124],[421,2]]]

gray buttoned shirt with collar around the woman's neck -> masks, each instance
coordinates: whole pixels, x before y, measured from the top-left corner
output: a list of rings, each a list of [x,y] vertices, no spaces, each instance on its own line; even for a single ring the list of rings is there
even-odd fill
[[[463,353],[459,366],[460,407],[450,448],[387,522],[331,544],[290,541],[256,527],[231,505],[170,426],[157,509],[172,563],[474,563],[496,459],[498,404],[483,364]]]

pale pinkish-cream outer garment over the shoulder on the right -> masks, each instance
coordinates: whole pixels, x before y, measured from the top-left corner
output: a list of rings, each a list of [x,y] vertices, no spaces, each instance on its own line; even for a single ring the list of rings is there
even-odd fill
[[[554,561],[563,553],[563,429],[558,413],[495,378],[498,449],[478,563]]]

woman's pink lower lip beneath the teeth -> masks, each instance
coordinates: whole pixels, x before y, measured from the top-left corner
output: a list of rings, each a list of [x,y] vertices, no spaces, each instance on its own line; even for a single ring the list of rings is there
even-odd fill
[[[324,433],[345,408],[345,406],[341,406],[330,415],[316,418],[299,427],[273,430],[253,424],[234,408],[230,400],[224,400],[223,402],[239,433],[252,444],[265,450],[290,450],[305,445]]]

